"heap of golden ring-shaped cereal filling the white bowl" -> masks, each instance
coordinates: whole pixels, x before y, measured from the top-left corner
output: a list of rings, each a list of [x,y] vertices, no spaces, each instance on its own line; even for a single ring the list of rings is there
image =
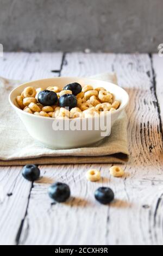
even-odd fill
[[[76,93],[74,93],[74,91]],[[49,101],[42,102],[40,100],[40,94],[42,97],[44,92],[54,95],[55,101],[52,101],[51,103],[49,103]],[[70,105],[64,105],[69,107],[69,110],[67,107],[63,106],[62,96],[64,99],[66,97],[71,98]],[[57,86],[50,86],[46,89],[41,87],[36,89],[34,87],[26,87],[23,92],[16,97],[16,102],[23,111],[34,115],[40,115],[41,117],[89,118],[99,116],[101,113],[106,114],[116,111],[116,109],[120,107],[121,102],[114,98],[114,95],[103,87],[94,89],[91,85],[86,85],[83,88],[80,87],[79,89],[76,89],[72,87],[68,88],[67,85],[66,89],[62,90]],[[74,101],[74,103],[72,104],[71,101]]]

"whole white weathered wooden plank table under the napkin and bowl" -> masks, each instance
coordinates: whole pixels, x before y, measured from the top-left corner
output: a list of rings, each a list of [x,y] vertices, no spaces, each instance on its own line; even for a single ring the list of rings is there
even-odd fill
[[[31,186],[22,167],[0,168],[1,244],[163,245],[162,69],[157,54],[5,53],[0,58],[0,76],[20,80],[115,71],[130,95],[130,159],[122,179],[109,175],[111,164],[51,165],[40,166],[44,178]],[[90,167],[101,169],[100,182],[86,181]],[[47,187],[58,180],[70,185],[72,198],[51,205]],[[115,192],[110,206],[95,202],[93,192],[101,185]]]

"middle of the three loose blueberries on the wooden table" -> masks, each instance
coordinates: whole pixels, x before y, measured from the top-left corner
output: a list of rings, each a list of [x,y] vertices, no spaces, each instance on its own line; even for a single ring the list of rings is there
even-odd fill
[[[70,187],[61,182],[56,182],[48,188],[49,197],[58,203],[65,202],[70,197]]]

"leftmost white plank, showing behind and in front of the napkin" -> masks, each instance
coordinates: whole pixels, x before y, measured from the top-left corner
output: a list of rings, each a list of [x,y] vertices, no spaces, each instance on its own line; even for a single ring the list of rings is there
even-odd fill
[[[0,58],[0,76],[23,81],[58,76],[61,62],[62,53],[4,53]],[[2,245],[18,243],[27,215],[31,183],[22,178],[21,168],[0,167]]]

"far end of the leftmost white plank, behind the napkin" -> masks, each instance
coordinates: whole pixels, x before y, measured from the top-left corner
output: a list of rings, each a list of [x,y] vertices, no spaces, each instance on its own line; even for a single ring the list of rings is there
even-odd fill
[[[61,52],[6,52],[4,57],[0,58],[0,76],[22,81],[58,76],[61,62]]]

